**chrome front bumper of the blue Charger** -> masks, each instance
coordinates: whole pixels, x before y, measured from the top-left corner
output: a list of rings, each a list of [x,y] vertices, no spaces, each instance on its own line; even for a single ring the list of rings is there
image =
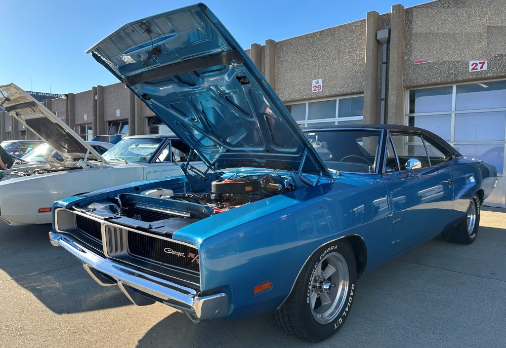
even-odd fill
[[[153,298],[188,314],[193,321],[225,317],[229,301],[225,293],[199,296],[196,290],[165,279],[139,272],[117,264],[86,249],[77,241],[57,232],[49,232],[54,246],[62,246],[82,261],[83,267],[100,285],[118,285],[123,293],[138,306],[151,305]],[[150,296],[144,296],[141,291]]]

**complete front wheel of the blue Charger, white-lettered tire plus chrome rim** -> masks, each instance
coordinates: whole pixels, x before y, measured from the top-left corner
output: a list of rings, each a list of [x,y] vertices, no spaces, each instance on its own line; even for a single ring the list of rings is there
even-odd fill
[[[350,243],[328,243],[309,258],[291,294],[273,312],[274,320],[293,337],[308,342],[324,340],[348,318],[356,282],[357,266]]]

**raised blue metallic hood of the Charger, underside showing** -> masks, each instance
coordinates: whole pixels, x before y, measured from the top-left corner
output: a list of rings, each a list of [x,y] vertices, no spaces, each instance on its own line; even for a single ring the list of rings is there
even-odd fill
[[[90,52],[209,167],[331,177],[271,86],[205,5],[126,24]]]

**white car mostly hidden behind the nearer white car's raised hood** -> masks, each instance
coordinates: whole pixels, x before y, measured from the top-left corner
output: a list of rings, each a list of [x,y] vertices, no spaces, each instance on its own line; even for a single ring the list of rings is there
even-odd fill
[[[100,154],[105,153],[107,150],[114,146],[114,144],[105,142],[89,141],[87,143],[90,144],[90,146],[97,150],[97,152]],[[0,178],[0,181],[6,180],[7,178],[13,179],[24,176],[21,172],[27,170],[51,168],[48,161],[51,162],[62,159],[63,157],[57,151],[55,151],[49,144],[44,143],[37,146],[34,150],[28,152],[23,157],[16,158],[14,165],[11,168],[0,170],[0,173],[4,173],[3,176],[0,176],[3,177]],[[17,176],[16,172],[20,172],[20,175]],[[10,174],[9,176],[7,176],[8,173]]]

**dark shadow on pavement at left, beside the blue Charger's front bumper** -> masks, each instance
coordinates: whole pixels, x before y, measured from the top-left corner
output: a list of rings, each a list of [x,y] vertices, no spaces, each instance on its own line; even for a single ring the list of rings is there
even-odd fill
[[[57,314],[131,305],[117,287],[98,285],[75,257],[52,246],[50,229],[0,222],[0,284],[16,282]]]

